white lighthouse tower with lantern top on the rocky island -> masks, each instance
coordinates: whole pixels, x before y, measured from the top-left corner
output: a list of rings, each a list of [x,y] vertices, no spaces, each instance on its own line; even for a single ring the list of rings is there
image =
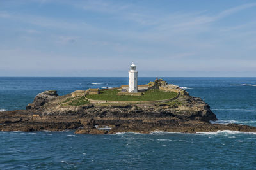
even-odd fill
[[[138,92],[138,71],[136,65],[132,62],[131,69],[129,70],[129,93]]]

